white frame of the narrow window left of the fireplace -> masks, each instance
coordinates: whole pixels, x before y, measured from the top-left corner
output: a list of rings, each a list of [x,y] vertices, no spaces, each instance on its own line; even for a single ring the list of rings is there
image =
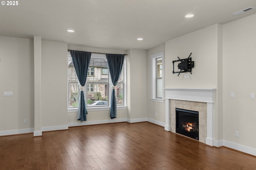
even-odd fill
[[[156,98],[156,59],[162,57],[162,98]],[[151,101],[164,103],[164,52],[151,55]]]

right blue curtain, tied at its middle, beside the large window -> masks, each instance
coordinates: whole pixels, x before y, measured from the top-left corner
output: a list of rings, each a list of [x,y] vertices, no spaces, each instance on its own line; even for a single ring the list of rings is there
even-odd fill
[[[110,77],[112,81],[112,94],[110,101],[110,117],[111,119],[116,118],[116,84],[120,77],[123,63],[124,63],[124,54],[106,54],[108,61],[108,69],[110,72]]]

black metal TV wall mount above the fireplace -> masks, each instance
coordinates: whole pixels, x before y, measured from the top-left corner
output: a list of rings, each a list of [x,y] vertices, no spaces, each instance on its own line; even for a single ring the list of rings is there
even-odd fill
[[[190,74],[192,74],[192,68],[194,67],[194,61],[192,61],[191,59],[191,54],[188,56],[188,58],[186,59],[180,59],[180,57],[178,57],[178,60],[174,60],[172,61],[173,64],[173,71],[172,73],[178,73],[178,76],[180,75],[181,72],[190,72]],[[180,71],[174,71],[174,63],[180,61],[180,63],[178,63],[178,69],[180,69]]]

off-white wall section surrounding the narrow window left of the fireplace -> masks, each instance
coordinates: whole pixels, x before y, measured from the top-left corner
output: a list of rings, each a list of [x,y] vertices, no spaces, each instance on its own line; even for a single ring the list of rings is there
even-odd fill
[[[165,45],[160,45],[147,51],[147,103],[148,103],[148,121],[165,125],[165,103],[151,102],[151,55],[165,51]],[[164,60],[164,57],[163,57]],[[165,66],[164,66],[165,68]],[[163,82],[164,84],[164,82]],[[157,113],[157,116],[156,116]]]

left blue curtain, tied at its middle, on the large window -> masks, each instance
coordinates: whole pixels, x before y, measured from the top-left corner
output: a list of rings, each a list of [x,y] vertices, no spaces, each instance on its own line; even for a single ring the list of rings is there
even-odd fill
[[[87,109],[84,99],[84,85],[86,82],[88,67],[90,64],[92,53],[70,50],[70,54],[72,57],[74,68],[76,70],[77,78],[80,83],[80,96],[78,102],[77,119],[81,121],[86,121]]]

